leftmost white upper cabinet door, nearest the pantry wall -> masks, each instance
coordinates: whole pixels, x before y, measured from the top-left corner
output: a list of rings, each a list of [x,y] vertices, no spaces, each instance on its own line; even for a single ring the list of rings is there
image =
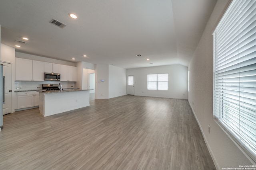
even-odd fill
[[[32,60],[16,58],[16,80],[32,81]]]

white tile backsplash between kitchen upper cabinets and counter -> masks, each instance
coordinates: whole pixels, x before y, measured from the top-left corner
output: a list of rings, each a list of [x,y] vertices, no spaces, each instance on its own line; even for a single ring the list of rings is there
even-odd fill
[[[58,81],[15,81],[14,90],[42,90],[42,84],[62,84],[62,88],[74,88],[75,82],[58,82]],[[72,87],[73,86],[73,87]],[[40,87],[37,88],[37,87]],[[17,89],[20,88],[20,89]]]

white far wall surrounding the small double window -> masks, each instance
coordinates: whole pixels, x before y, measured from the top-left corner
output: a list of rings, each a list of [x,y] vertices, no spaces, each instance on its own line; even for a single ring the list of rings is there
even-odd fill
[[[147,90],[147,74],[169,74],[169,89]],[[180,64],[127,69],[134,75],[134,95],[162,98],[188,99],[188,67]]]

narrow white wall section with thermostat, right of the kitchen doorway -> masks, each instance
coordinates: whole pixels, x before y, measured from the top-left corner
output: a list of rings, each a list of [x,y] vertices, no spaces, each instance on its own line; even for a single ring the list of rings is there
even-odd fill
[[[108,68],[108,64],[95,66],[95,99],[108,99]]]

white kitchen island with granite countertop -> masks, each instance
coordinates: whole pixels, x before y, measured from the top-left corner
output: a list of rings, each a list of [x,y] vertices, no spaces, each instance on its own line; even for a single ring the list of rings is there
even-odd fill
[[[39,109],[44,117],[90,106],[89,90],[49,90],[38,92]]]

